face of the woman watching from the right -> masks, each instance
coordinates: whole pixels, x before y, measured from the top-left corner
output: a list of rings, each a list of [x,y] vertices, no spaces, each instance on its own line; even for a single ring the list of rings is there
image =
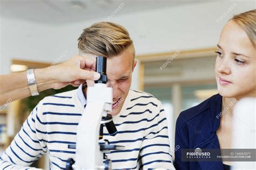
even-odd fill
[[[219,94],[242,98],[256,94],[256,48],[232,20],[220,33],[215,77]]]

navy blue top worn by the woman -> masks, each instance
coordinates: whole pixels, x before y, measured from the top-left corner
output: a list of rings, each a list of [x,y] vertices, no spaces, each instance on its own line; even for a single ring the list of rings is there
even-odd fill
[[[220,125],[222,96],[214,95],[196,107],[182,111],[176,122],[174,166],[179,169],[218,169],[224,170],[222,161],[181,161],[183,148],[219,149],[216,131]],[[217,118],[218,117],[218,118]]]

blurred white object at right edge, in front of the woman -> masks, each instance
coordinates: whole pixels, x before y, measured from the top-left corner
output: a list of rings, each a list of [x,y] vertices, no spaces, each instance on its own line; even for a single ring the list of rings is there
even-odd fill
[[[254,149],[250,156],[255,159],[256,149],[256,98],[243,98],[234,107],[232,148]],[[246,151],[245,151],[246,152]],[[234,162],[232,170],[256,169],[255,161]]]

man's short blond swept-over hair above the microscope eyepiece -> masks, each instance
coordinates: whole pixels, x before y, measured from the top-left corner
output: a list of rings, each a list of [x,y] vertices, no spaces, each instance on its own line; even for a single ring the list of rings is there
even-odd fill
[[[100,22],[84,29],[78,38],[81,53],[112,57],[133,46],[127,30],[115,23]],[[134,50],[134,49],[133,49]]]

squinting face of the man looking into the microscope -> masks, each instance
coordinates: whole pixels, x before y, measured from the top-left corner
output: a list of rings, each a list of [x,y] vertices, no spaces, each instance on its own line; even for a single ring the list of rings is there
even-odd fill
[[[113,89],[113,104],[112,111],[109,113],[112,116],[119,114],[124,101],[129,93],[132,72],[137,61],[133,62],[134,48],[130,46],[123,53],[107,58],[107,87]],[[97,55],[83,54],[86,58],[96,61]],[[87,80],[87,86],[93,86],[94,81]]]

